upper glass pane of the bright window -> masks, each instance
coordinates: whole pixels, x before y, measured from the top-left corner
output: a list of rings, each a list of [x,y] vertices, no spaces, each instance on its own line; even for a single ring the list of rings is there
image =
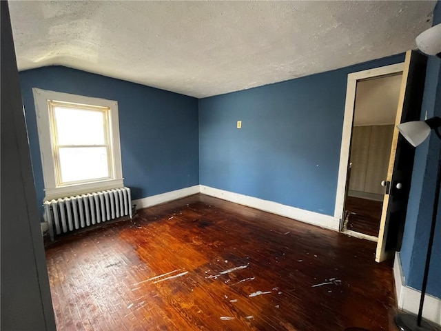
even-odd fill
[[[104,112],[55,106],[59,145],[104,145]]]

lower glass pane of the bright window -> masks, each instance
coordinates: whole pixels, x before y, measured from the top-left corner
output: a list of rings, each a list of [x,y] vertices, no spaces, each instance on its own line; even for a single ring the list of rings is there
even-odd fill
[[[109,177],[105,147],[60,148],[61,182]]]

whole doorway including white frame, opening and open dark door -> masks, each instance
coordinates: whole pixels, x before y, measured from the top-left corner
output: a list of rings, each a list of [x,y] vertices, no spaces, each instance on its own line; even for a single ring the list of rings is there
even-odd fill
[[[353,237],[377,241],[375,258],[377,262],[391,259],[401,247],[415,148],[403,140],[396,126],[399,123],[420,119],[426,63],[427,57],[409,50],[402,63],[351,72],[347,75],[345,119],[334,216],[340,218],[342,232]],[[390,81],[396,81],[396,84],[400,82],[399,92],[398,86],[389,88]],[[360,111],[363,102],[367,103],[365,114]],[[391,105],[387,107],[390,113],[386,108],[382,108],[382,105],[388,103]],[[395,121],[391,121],[393,112],[395,112]],[[382,119],[383,117],[386,119]],[[393,128],[391,141],[387,138],[387,126]],[[361,131],[368,132],[367,137],[362,133],[354,132],[358,127],[370,127],[361,128]],[[360,144],[361,151],[357,148],[357,139],[365,141],[365,144]],[[388,151],[389,163],[385,167],[383,161],[388,159]],[[374,167],[376,163],[383,166]],[[371,167],[373,167],[372,171],[370,171]],[[384,168],[387,172],[383,172]],[[358,178],[359,186],[351,185],[351,177],[355,177],[352,181]],[[357,229],[357,225],[367,223],[353,218],[353,222],[350,223],[350,215],[357,214],[361,218],[360,215],[367,211],[367,204],[371,201],[379,201],[381,196],[383,201],[378,237],[358,232],[362,227],[358,226]],[[347,197],[362,199],[349,199],[360,202],[358,212],[351,211],[354,207],[351,207],[350,201],[346,205]],[[377,210],[378,215],[379,203],[376,205],[374,209]],[[377,224],[374,225],[375,229]]]

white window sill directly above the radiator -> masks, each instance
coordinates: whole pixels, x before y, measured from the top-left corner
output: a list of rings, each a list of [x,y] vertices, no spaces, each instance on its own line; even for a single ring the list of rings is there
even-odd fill
[[[110,179],[107,181],[96,181],[94,183],[67,185],[59,188],[46,188],[44,190],[44,201],[60,198],[63,199],[65,197],[72,197],[103,190],[111,190],[112,188],[122,188],[123,186],[123,179]]]

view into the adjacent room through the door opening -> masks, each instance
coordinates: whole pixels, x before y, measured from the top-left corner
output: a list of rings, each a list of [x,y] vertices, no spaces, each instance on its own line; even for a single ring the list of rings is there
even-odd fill
[[[378,241],[402,72],[356,82],[342,232]]]

